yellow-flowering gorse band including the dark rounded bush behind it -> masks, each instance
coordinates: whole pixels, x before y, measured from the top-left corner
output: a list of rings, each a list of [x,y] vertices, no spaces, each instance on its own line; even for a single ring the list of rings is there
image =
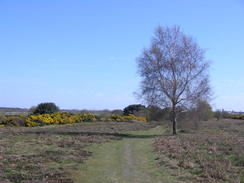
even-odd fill
[[[95,115],[93,113],[68,113],[59,112],[54,103],[41,103],[29,115],[0,115],[0,126],[43,126],[51,124],[72,124],[82,122],[147,122],[146,117],[136,116],[134,113],[119,115],[108,113],[108,115]],[[125,110],[126,111],[126,110]]]

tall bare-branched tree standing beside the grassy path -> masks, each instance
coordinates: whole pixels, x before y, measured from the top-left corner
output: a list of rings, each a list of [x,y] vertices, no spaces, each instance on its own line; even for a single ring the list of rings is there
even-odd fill
[[[205,51],[180,27],[159,26],[151,46],[138,58],[141,96],[148,104],[171,108],[173,134],[177,116],[209,95]]]

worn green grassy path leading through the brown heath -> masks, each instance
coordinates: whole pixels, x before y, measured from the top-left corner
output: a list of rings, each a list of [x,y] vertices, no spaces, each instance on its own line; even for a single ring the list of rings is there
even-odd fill
[[[166,169],[158,168],[153,139],[164,129],[127,133],[123,140],[91,147],[93,156],[74,173],[79,183],[162,183],[174,182]]]

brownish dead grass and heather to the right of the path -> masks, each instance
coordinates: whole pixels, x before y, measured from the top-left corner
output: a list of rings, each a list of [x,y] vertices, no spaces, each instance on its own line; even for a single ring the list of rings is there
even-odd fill
[[[155,140],[159,155],[177,161],[193,182],[244,182],[244,121],[203,122],[194,133]],[[164,161],[163,156],[160,156]]]

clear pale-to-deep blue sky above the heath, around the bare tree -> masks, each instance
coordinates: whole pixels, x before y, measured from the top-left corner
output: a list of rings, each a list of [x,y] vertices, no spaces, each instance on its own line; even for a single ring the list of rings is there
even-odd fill
[[[0,106],[139,103],[135,60],[158,25],[207,49],[213,107],[244,111],[243,0],[0,0]]]

